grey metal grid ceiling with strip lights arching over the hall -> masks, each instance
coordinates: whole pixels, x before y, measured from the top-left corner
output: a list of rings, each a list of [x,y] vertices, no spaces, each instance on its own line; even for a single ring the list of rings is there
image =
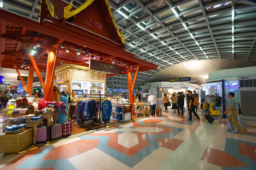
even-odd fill
[[[74,0],[73,5],[77,8],[85,1]],[[189,60],[241,59],[237,67],[243,67],[246,60],[249,64],[256,61],[254,0],[109,0],[109,4],[116,25],[124,32],[126,51],[158,65],[157,70],[138,74],[135,89],[148,77],[157,79],[155,75],[163,70]],[[39,19],[39,0],[8,0],[3,8]],[[127,88],[127,75],[108,77],[107,86]]]

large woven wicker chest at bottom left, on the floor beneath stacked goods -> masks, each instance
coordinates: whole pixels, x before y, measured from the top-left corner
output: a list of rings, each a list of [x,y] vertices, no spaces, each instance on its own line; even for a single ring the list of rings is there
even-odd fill
[[[33,142],[33,128],[19,134],[0,134],[0,153],[18,153]]]

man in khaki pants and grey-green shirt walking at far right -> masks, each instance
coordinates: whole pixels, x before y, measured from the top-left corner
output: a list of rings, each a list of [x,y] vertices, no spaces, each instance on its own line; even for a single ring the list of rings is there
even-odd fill
[[[239,113],[238,109],[239,109],[239,102],[238,99],[235,98],[235,94],[234,92],[230,92],[227,95],[228,98],[230,98],[230,107],[227,109],[227,111],[224,112],[224,114],[227,114],[230,111],[230,115],[228,116],[227,120],[230,123],[231,128],[228,130],[235,130],[234,124],[236,126],[236,130],[238,134],[244,134],[243,133],[243,129],[240,125],[239,119],[237,118],[237,115]],[[233,121],[234,123],[233,123]]]

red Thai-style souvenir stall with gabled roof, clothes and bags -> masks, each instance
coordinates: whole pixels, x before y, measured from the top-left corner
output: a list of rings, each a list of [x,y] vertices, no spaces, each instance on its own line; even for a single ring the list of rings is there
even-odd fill
[[[42,0],[40,6],[39,23],[0,9],[0,21],[6,25],[1,30],[4,32],[4,36],[1,35],[1,39],[15,44],[11,50],[7,50],[6,46],[4,47],[6,49],[2,49],[4,52],[1,53],[3,58],[1,67],[15,68],[16,70],[19,67],[19,70],[25,70],[25,68],[21,67],[21,60],[26,59],[26,65],[30,65],[30,68],[35,68],[44,91],[44,101],[49,102],[44,103],[41,101],[40,103],[44,105],[44,108],[40,109],[38,105],[38,111],[35,111],[36,105],[32,105],[34,108],[29,108],[32,107],[29,105],[25,116],[9,120],[20,122],[25,120],[25,123],[19,122],[19,124],[14,125],[12,122],[9,124],[10,126],[6,129],[6,133],[10,131],[10,133],[17,134],[13,134],[15,137],[8,136],[10,134],[6,133],[0,135],[0,153],[16,153],[35,142],[47,142],[48,139],[58,140],[58,138],[69,134],[81,133],[81,131],[74,133],[76,129],[87,131],[87,128],[81,128],[81,124],[93,124],[94,121],[96,125],[102,126],[101,122],[104,122],[105,124],[103,125],[106,126],[108,122],[111,125],[112,121],[117,123],[131,119],[130,115],[134,114],[134,109],[127,105],[132,103],[132,89],[136,81],[136,76],[132,79],[132,74],[137,75],[140,71],[157,69],[157,65],[138,59],[134,57],[134,54],[125,51],[125,37],[122,31],[119,31],[116,27],[107,0],[86,1],[77,10],[70,9],[68,11],[65,8],[67,3],[62,0],[54,0],[52,4],[49,4],[48,0]],[[70,1],[69,6],[73,6],[72,1]],[[20,30],[22,30],[21,35],[15,37],[9,33],[9,29],[5,29],[14,25],[13,31],[20,34]],[[15,51],[16,48],[20,50],[17,52]],[[119,66],[118,71],[115,66]],[[45,81],[40,71],[46,71]],[[111,99],[108,99],[108,96],[105,95],[105,77],[119,74],[128,74],[128,98],[130,101],[124,106],[122,104],[121,106],[120,104],[114,106],[114,118],[116,119],[114,120],[110,119],[110,117],[112,105],[115,103],[111,103]],[[54,87],[55,80],[56,86]],[[24,83],[23,87],[26,90]],[[84,96],[77,97],[77,99],[80,98],[80,101],[76,101],[76,99],[70,97],[70,95],[72,96],[72,91],[74,95]],[[98,103],[96,104],[98,99],[101,104],[99,106]],[[83,112],[78,113],[79,105],[74,107],[74,101],[96,108],[99,112],[98,115],[95,115],[97,112],[94,109],[85,110],[84,112],[83,108],[81,108]],[[28,101],[21,99],[20,102],[23,102],[22,105],[26,105]],[[69,105],[71,108],[77,107],[77,112],[73,114],[76,122],[73,123],[65,122],[67,117],[70,117],[68,113]],[[108,107],[109,109],[106,111],[101,108],[103,107],[102,105],[111,105],[111,107]],[[32,109],[34,111],[30,114],[29,112]],[[16,110],[16,113],[13,114],[24,114],[24,111],[20,110]],[[123,116],[120,116],[121,111],[124,114],[122,114]],[[58,114],[58,123],[56,123],[57,115],[54,119],[44,116],[51,115],[53,112],[54,115]],[[110,113],[110,116],[108,117],[108,114],[105,113]],[[80,115],[82,117],[79,117]],[[45,121],[44,118],[46,119]],[[48,120],[52,123],[48,122]],[[41,122],[47,123],[47,126],[41,126]],[[50,133],[49,123],[51,124]],[[65,130],[62,130],[62,128]],[[20,133],[20,131],[23,132]],[[14,139],[17,140],[14,141]],[[20,139],[26,139],[27,141],[24,143]],[[16,150],[6,150],[6,144],[10,143],[12,143],[13,147],[17,147]],[[12,146],[9,146],[8,149],[11,149]]]

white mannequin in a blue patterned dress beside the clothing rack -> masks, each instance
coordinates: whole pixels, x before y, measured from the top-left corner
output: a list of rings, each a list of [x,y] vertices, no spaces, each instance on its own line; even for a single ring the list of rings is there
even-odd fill
[[[66,109],[68,110],[68,104],[70,103],[70,94],[67,92],[67,85],[63,86],[63,91],[61,91],[59,97],[58,97],[58,101],[60,102],[64,102],[66,105]],[[65,122],[67,120],[67,115],[65,114],[61,114],[60,113],[60,107],[59,107],[59,111],[58,111],[58,124],[62,124],[63,122]]]

